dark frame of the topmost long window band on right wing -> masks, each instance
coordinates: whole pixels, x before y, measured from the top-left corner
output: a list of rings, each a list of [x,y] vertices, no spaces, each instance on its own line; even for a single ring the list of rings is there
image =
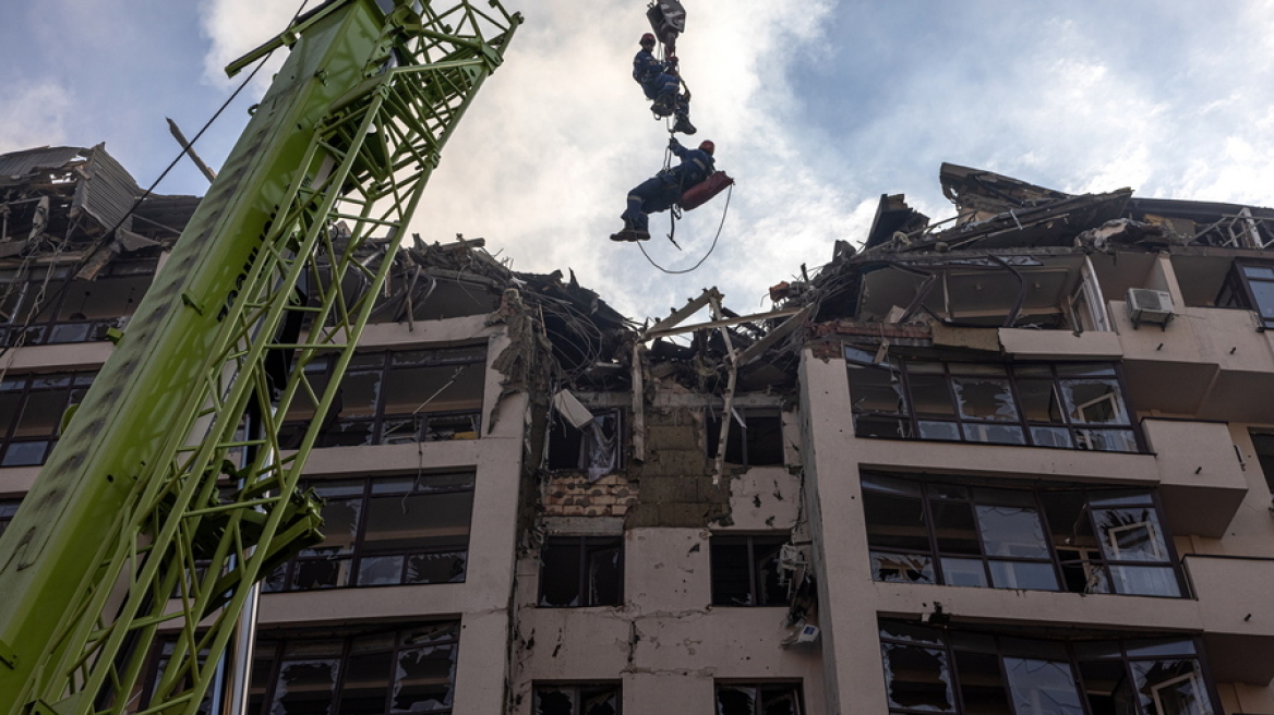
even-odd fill
[[[1069,450],[1082,450],[1082,452],[1112,452],[1120,454],[1145,454],[1149,452],[1144,435],[1142,434],[1140,425],[1136,419],[1136,412],[1127,399],[1127,385],[1124,380],[1122,368],[1119,363],[1110,361],[1041,361],[1041,363],[971,363],[971,361],[953,361],[953,360],[911,360],[901,356],[891,356],[883,363],[877,363],[875,359],[851,346],[845,346],[845,363],[846,370],[848,373],[848,379],[851,383],[851,401],[852,406],[852,420],[855,435],[860,439],[903,439],[903,440],[916,440],[916,441],[947,441],[947,443],[961,443],[961,444],[985,444],[985,445],[1006,445],[1006,447],[1043,447],[1051,449],[1069,449]],[[920,371],[919,366],[935,366],[940,365],[941,371]],[[1064,368],[1091,368],[1093,370],[1110,370],[1108,375],[1082,375],[1082,374],[1064,374],[1060,370]],[[1047,369],[1047,375],[1042,374],[1022,374],[1029,370]],[[854,370],[866,369],[866,370],[879,370],[889,375],[889,383],[893,385],[893,391],[898,396],[899,408],[893,412],[885,412],[880,410],[860,410],[859,402],[861,399],[855,399],[852,396],[852,383],[854,383]],[[999,373],[980,373],[978,369],[994,369]],[[921,378],[940,378],[943,389],[945,392],[947,403],[952,407],[949,415],[935,415],[925,416],[921,410],[917,408],[920,403],[916,399],[916,387],[915,383]],[[977,419],[962,415],[962,402],[957,392],[957,383],[959,380],[1003,380],[1006,383],[1006,394],[1012,399],[1012,407],[1014,410],[1013,419]],[[1088,399],[1082,405],[1075,405],[1074,410],[1070,408],[1068,401],[1068,393],[1065,388],[1068,383],[1078,380],[1113,380],[1113,387],[1119,391],[1117,398],[1112,393],[1098,396],[1097,398]],[[1059,408],[1060,421],[1042,421],[1032,420],[1026,410],[1026,401],[1022,396],[1023,383],[1026,382],[1047,382],[1050,389],[1052,391],[1052,398],[1056,399],[1056,406]],[[1092,405],[1099,402],[1110,402],[1119,408],[1122,408],[1122,413],[1126,416],[1126,424],[1117,422],[1087,422],[1079,421],[1075,413],[1082,413],[1083,410],[1091,407]],[[866,430],[862,426],[862,420],[879,420],[883,422],[897,424],[899,429],[898,435],[892,434],[864,434]],[[950,425],[956,430],[956,436],[936,436],[930,434],[924,435],[926,425]],[[1008,427],[1017,429],[1020,435],[1020,440],[1008,440],[998,441],[992,439],[972,439],[970,436],[972,426],[982,427]],[[1038,434],[1036,430],[1041,430]],[[1042,439],[1045,434],[1056,435],[1056,430],[1065,430],[1069,445],[1059,445],[1056,440]],[[1101,440],[1094,440],[1094,433],[1099,435],[1101,433],[1124,433],[1125,440],[1131,436],[1131,445],[1134,449],[1103,449],[1101,448]],[[1050,441],[1051,444],[1047,444]],[[1084,445],[1088,447],[1084,447]],[[1097,445],[1094,448],[1093,445]]]

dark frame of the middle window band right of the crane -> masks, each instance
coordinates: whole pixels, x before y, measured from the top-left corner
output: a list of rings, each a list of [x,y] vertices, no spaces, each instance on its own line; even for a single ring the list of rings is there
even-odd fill
[[[445,487],[436,489],[436,490],[417,491],[418,485],[420,482],[427,482],[429,477],[434,477],[434,478],[437,478],[437,477],[459,477],[461,475],[469,477],[468,485],[454,485],[454,486],[445,486]],[[383,482],[390,481],[390,480],[401,480],[404,477],[412,477],[412,476],[415,477],[415,481],[413,481],[412,491],[410,492],[392,492],[392,494],[376,494],[375,492],[377,482],[383,483]],[[301,486],[299,486],[299,489],[303,490],[303,491],[313,489],[313,487],[321,487],[324,483],[355,482],[355,481],[362,481],[363,482],[363,485],[362,485],[363,486],[363,491],[362,491],[362,495],[358,497],[359,503],[361,503],[361,506],[359,506],[359,513],[358,513],[358,527],[357,527],[357,532],[355,532],[355,536],[354,536],[354,539],[353,539],[353,545],[352,545],[350,551],[348,553],[338,553],[338,555],[335,555],[336,556],[335,559],[333,559],[330,555],[306,555],[306,553],[298,553],[298,555],[293,556],[287,562],[282,564],[278,569],[275,569],[275,571],[273,574],[270,574],[270,576],[268,576],[266,581],[262,581],[262,592],[264,593],[302,593],[302,592],[320,592],[320,590],[336,590],[336,589],[392,588],[392,587],[427,587],[427,585],[438,585],[438,584],[443,584],[443,583],[448,583],[448,584],[465,583],[465,580],[468,579],[468,575],[469,575],[469,548],[470,548],[470,543],[471,543],[471,539],[473,539],[473,508],[474,508],[474,504],[473,504],[473,497],[471,496],[470,496],[470,503],[469,503],[469,533],[465,537],[465,548],[462,550],[462,556],[461,556],[461,562],[464,564],[464,570],[459,574],[459,576],[460,576],[459,579],[454,578],[452,580],[447,580],[447,581],[417,581],[417,583],[408,583],[408,581],[405,581],[405,579],[406,579],[406,569],[408,569],[408,562],[409,562],[408,560],[412,556],[427,556],[427,555],[431,555],[431,553],[433,553],[433,555],[437,555],[437,553],[460,553],[459,550],[454,550],[454,548],[446,548],[446,550],[443,550],[443,548],[432,548],[432,550],[431,548],[396,548],[396,550],[386,550],[386,551],[367,551],[366,547],[364,547],[364,539],[366,539],[367,532],[368,532],[368,519],[371,518],[371,508],[369,506],[371,506],[371,501],[373,499],[395,500],[395,499],[404,499],[406,496],[415,496],[415,495],[419,495],[419,496],[452,495],[452,494],[470,494],[470,495],[473,495],[475,492],[475,486],[476,486],[476,478],[475,477],[476,477],[476,475],[473,471],[456,471],[456,472],[445,472],[445,473],[443,472],[436,472],[436,473],[424,473],[424,475],[413,475],[413,473],[408,473],[408,475],[373,475],[373,476],[363,476],[363,477],[354,476],[354,477],[339,477],[339,478],[322,478],[322,480],[306,480],[306,481],[303,481],[301,483]],[[345,499],[349,499],[349,497],[345,497]],[[316,546],[318,546],[318,545],[316,545]],[[311,550],[312,548],[315,548],[315,547],[311,547]],[[363,562],[364,559],[368,559],[368,557],[391,557],[391,556],[401,556],[403,557],[403,565],[400,567],[400,575],[399,575],[400,580],[399,580],[399,583],[395,583],[395,584],[359,584],[358,583],[359,574],[361,574],[361,565],[362,565],[362,562]],[[312,587],[312,588],[298,588],[298,587],[293,585],[294,579],[299,575],[299,570],[302,569],[302,564],[307,564],[307,562],[320,562],[320,564],[321,562],[344,562],[345,567],[348,567],[348,574],[345,574],[343,576],[343,579],[341,579],[341,576],[338,576],[338,579],[341,579],[345,583],[343,585],[320,585],[320,587]],[[282,578],[283,579],[283,581],[282,581],[283,585],[282,587],[275,588],[273,585],[269,585],[270,581],[273,579],[275,579],[275,578]]]

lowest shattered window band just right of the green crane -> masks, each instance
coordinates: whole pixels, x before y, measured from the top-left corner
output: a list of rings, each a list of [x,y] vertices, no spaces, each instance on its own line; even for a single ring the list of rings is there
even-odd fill
[[[262,632],[251,715],[451,712],[460,623]]]

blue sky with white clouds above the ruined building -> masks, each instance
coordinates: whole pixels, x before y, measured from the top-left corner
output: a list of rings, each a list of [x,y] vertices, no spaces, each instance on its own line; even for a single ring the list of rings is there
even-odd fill
[[[107,149],[143,186],[237,85],[223,67],[301,0],[5,0],[0,151]],[[446,0],[436,0],[445,3]],[[310,0],[307,6],[316,5]],[[716,285],[741,313],[860,242],[882,193],[934,219],[941,162],[1069,192],[1274,206],[1274,0],[683,0],[693,120],[738,179],[678,224],[652,218],[651,266],[613,244],[627,191],[668,135],[629,78],[645,0],[506,0],[526,17],[443,153],[413,230],[484,237],[516,270],[573,268],[634,318]],[[243,95],[197,144],[214,167]],[[182,162],[162,193],[204,193]]]

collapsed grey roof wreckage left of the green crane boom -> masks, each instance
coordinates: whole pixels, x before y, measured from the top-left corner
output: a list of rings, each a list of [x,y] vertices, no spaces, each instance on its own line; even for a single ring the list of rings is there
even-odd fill
[[[0,155],[0,260],[78,262],[92,280],[112,258],[171,247],[199,198],[147,196],[99,144]]]

